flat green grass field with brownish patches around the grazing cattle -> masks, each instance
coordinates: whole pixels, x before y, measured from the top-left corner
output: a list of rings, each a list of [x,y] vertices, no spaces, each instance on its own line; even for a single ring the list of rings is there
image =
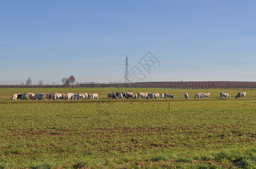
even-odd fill
[[[255,90],[131,88],[122,91],[176,99],[108,100],[112,91],[0,88],[0,168],[256,168]],[[240,91],[248,97],[234,99]],[[100,100],[10,100],[25,92],[98,93]],[[193,99],[197,92],[211,98]]]

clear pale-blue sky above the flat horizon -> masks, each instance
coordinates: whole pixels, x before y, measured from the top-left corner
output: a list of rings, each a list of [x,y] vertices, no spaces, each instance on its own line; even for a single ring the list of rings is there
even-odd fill
[[[61,84],[70,75],[121,82],[126,55],[129,73],[136,68],[145,82],[256,81],[255,7],[250,0],[1,1],[0,84],[28,77]]]

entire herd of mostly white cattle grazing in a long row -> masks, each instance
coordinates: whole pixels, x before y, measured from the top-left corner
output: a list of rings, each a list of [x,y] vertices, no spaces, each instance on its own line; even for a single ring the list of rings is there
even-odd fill
[[[246,92],[240,92],[237,94],[236,99],[238,97],[246,97]],[[202,99],[208,97],[210,98],[211,94],[210,93],[197,93],[195,94],[195,99],[199,99],[200,97]],[[134,94],[133,92],[116,92],[114,93],[109,93],[108,94],[108,99],[165,99],[166,97],[173,98],[175,97],[172,94],[159,94],[159,93],[143,93],[143,92],[138,92],[138,94]],[[189,94],[184,95],[185,99],[189,99]],[[231,96],[228,93],[220,92],[220,98],[225,97],[225,98],[231,98]],[[85,99],[85,100],[93,100],[93,99],[99,99],[98,94],[74,94],[74,93],[66,93],[66,94],[58,94],[56,92],[52,94],[33,94],[33,93],[26,93],[26,94],[14,94],[11,97],[11,100],[80,100],[80,99]]]

